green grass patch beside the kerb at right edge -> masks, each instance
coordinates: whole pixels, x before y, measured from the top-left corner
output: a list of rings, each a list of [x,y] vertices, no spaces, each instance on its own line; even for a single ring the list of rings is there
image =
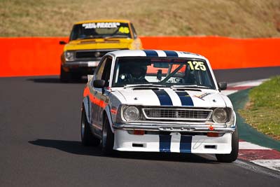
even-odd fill
[[[280,140],[280,76],[249,92],[249,102],[239,113],[258,131]]]

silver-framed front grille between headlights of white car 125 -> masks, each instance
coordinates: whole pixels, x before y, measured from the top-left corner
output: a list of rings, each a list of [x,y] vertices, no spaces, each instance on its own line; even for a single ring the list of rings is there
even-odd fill
[[[143,109],[147,119],[207,120],[211,110],[206,109]]]

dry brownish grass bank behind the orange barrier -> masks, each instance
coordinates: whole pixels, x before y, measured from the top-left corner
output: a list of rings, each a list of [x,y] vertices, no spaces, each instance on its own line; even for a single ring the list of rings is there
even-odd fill
[[[141,36],[280,37],[278,0],[0,0],[0,36],[69,36],[102,18],[129,19]]]

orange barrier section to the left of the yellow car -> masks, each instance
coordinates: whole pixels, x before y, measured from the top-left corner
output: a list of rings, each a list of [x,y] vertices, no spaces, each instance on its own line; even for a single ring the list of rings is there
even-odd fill
[[[0,76],[57,75],[66,38],[0,38]]]

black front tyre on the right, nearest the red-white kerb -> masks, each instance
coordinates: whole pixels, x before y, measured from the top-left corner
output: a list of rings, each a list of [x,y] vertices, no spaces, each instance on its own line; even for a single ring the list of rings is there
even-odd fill
[[[239,150],[239,138],[237,127],[232,134],[232,152],[230,154],[216,154],[218,162],[233,162],[237,160]]]

